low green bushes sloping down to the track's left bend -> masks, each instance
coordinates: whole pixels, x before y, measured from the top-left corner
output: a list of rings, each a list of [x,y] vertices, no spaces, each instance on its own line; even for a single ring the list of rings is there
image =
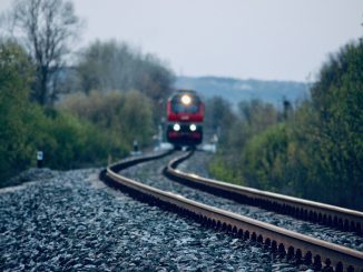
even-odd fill
[[[127,147],[118,138],[70,113],[47,109],[37,118],[33,144],[45,152],[45,165],[72,169],[124,157]]]

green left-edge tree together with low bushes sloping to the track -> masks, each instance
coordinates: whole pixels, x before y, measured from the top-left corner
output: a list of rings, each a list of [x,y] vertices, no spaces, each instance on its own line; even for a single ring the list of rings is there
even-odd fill
[[[109,155],[120,158],[130,150],[116,132],[30,102],[33,67],[18,44],[0,43],[0,187],[14,172],[33,167],[37,150],[45,152],[45,167],[57,169],[106,163]],[[128,99],[138,100],[135,95]]]

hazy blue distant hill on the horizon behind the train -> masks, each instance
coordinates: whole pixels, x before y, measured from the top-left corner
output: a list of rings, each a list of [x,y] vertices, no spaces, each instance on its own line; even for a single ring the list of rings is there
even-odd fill
[[[236,105],[239,101],[259,99],[276,107],[282,105],[284,98],[291,102],[307,99],[308,85],[294,81],[264,81],[254,79],[232,79],[218,77],[178,77],[177,89],[193,89],[206,99],[219,95]]]

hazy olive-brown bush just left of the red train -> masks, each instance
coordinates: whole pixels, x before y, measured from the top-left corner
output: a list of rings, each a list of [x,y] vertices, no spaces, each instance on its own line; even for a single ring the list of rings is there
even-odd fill
[[[61,108],[109,131],[126,147],[130,147],[134,140],[146,145],[154,132],[151,102],[139,91],[73,95]]]

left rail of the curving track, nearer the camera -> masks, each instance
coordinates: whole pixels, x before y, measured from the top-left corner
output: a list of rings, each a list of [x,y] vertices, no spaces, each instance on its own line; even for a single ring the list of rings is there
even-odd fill
[[[317,269],[324,266],[331,270],[334,268],[335,271],[363,271],[362,252],[202,204],[182,195],[165,192],[118,174],[122,169],[140,162],[160,159],[167,154],[169,154],[169,152],[116,163],[104,170],[100,178],[109,185],[127,191],[141,201],[158,204],[164,209],[192,218],[204,225],[220,229],[242,239],[251,239],[259,242],[281,256],[295,259],[297,262],[304,262]],[[175,167],[187,159],[188,155],[190,155],[190,153],[177,160],[173,160],[168,165],[168,172],[176,172],[179,181],[183,179],[183,173],[175,170]],[[196,175],[192,177],[194,179],[197,178]],[[185,180],[184,182],[190,181]]]

